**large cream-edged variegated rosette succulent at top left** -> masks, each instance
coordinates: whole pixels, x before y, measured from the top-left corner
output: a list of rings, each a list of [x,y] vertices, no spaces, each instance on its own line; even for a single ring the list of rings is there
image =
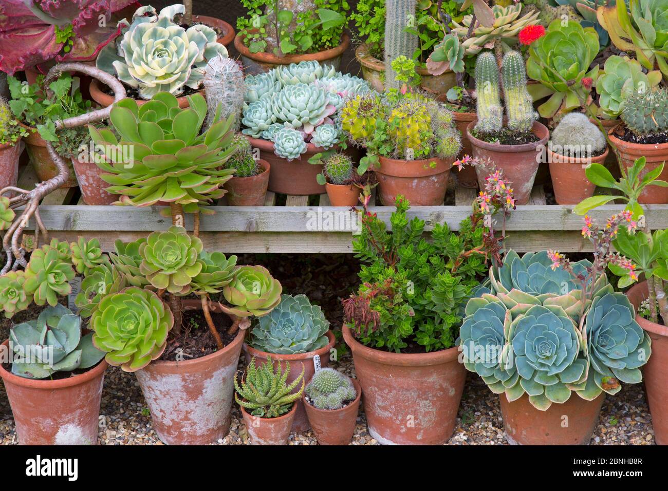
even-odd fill
[[[184,86],[198,89],[208,60],[227,57],[227,49],[206,25],[186,30],[176,24],[174,16],[184,11],[180,4],[165,7],[157,15],[150,5],[140,7],[115,43],[100,51],[97,67],[136,88],[146,100],[163,91],[178,96]]]

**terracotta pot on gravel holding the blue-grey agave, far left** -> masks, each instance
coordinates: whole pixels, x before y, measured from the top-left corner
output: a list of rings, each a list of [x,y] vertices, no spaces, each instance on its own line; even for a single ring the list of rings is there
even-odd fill
[[[2,343],[9,352],[9,341]],[[60,380],[19,377],[0,365],[21,445],[96,445],[104,359],[86,373]]]

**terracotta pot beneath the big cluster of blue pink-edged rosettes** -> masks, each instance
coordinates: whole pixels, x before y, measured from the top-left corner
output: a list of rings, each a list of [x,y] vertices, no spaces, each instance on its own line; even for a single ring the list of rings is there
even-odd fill
[[[512,402],[501,394],[506,440],[511,445],[587,445],[599,422],[604,400],[605,392],[593,401],[571,393],[568,401],[540,411],[531,405],[526,394]]]

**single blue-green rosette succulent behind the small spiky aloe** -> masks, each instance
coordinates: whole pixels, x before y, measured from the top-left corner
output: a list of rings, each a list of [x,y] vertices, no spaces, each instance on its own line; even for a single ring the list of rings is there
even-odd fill
[[[253,328],[251,346],[267,353],[293,355],[325,347],[329,321],[306,295],[281,295],[281,302]]]

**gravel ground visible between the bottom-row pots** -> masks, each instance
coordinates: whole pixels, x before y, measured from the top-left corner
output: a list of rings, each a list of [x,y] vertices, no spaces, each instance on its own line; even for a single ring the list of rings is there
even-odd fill
[[[338,368],[353,375],[350,357],[344,358]],[[481,379],[468,374],[460,405],[457,426],[447,445],[506,445],[498,396],[492,394]],[[17,444],[14,422],[4,386],[0,389],[0,443]],[[100,414],[104,425],[100,428],[103,445],[163,445],[153,430],[148,407],[144,402],[135,376],[119,368],[107,370],[102,392]],[[244,445],[248,436],[236,404],[232,407],[230,434],[218,444]],[[290,445],[317,445],[311,432],[292,434]],[[353,445],[377,445],[369,436],[363,411],[357,420]],[[625,384],[615,397],[607,397],[601,411],[599,425],[592,436],[592,445],[648,445],[654,444],[651,416],[643,385]]]

